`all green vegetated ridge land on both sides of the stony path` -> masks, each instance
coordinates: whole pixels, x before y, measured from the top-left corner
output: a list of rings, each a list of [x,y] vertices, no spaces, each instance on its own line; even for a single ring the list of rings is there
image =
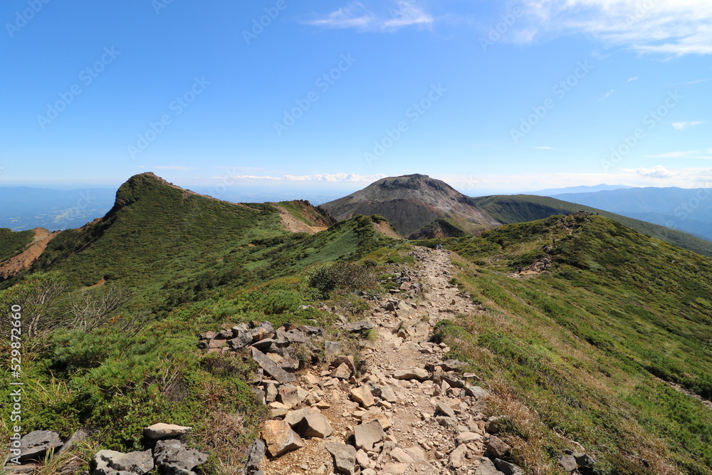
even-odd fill
[[[142,427],[169,420],[194,427],[189,442],[211,454],[202,475],[231,473],[266,409],[250,360],[206,353],[197,335],[265,320],[332,332],[337,314],[367,318],[397,293],[392,278],[412,265],[413,246],[443,244],[454,253],[451,284],[483,312],[444,320],[434,338],[492,392],[486,411],[506,416],[501,437],[527,475],[562,474],[557,456],[570,441],[599,475],[712,475],[712,410],[671,387],[712,398],[712,259],[563,208],[579,205],[476,200],[513,224],[471,236],[444,219],[440,229],[456,236],[407,241],[384,236],[382,216],[294,233],[271,204],[132,177],[103,219],[62,231],[2,284],[0,305],[21,302],[26,324],[38,320],[23,340],[24,429],[83,428],[91,447],[133,450]],[[305,202],[287,208],[305,224],[324,218]],[[6,254],[28,238],[7,236],[16,240]],[[77,325],[78,303],[115,291],[125,294],[98,325]],[[343,343],[358,360],[361,343]],[[323,364],[323,348],[300,351],[300,367]],[[9,410],[0,409],[2,437]],[[228,430],[226,420],[240,422]]]

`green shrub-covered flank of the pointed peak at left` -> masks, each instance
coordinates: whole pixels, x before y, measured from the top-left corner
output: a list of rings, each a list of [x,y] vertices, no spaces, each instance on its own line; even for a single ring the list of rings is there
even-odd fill
[[[240,266],[226,256],[278,234],[279,215],[269,205],[219,202],[141,174],[122,185],[104,219],[56,236],[33,271],[61,271],[82,286],[105,277],[137,289],[142,306],[157,310],[167,294],[235,278]]]

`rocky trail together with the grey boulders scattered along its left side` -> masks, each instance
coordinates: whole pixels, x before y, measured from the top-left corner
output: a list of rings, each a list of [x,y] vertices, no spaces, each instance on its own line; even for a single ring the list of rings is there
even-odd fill
[[[230,474],[524,474],[512,463],[512,447],[496,435],[503,419],[484,414],[489,393],[478,375],[446,359],[450,349],[433,338],[440,320],[477,318],[484,310],[451,284],[451,252],[417,247],[409,255],[415,264],[394,266],[399,288],[373,302],[370,318],[350,323],[336,315],[335,334],[343,340],[325,340],[323,328],[275,329],[268,322],[201,333],[198,346],[207,353],[237,353],[256,362],[253,391],[271,411],[246,464],[230,467]],[[367,330],[352,356],[347,336]],[[312,360],[319,365],[297,371],[298,348],[323,348]],[[195,475],[209,454],[182,442],[190,431],[165,423],[145,427],[143,450],[101,450],[82,473]],[[20,465],[4,467],[6,473],[33,473],[37,460],[84,437],[78,431],[63,442],[54,432],[31,432],[14,454]],[[581,475],[594,475],[594,463],[572,451],[558,461],[563,471]],[[75,473],[73,465],[62,473]]]

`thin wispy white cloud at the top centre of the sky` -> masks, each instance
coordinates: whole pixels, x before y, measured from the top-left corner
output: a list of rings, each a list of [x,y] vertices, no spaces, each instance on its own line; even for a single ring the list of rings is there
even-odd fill
[[[366,6],[352,1],[329,14],[313,14],[304,24],[323,28],[355,28],[360,31],[396,31],[406,26],[431,28],[434,18],[415,1],[399,0],[389,6]]]

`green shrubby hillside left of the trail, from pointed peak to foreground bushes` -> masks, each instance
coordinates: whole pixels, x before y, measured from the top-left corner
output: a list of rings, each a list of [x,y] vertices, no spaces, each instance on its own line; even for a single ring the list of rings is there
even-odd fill
[[[68,437],[84,427],[102,447],[130,450],[140,447],[146,425],[185,424],[194,427],[190,442],[216,455],[204,473],[231,473],[226,467],[239,466],[266,410],[245,382],[251,363],[206,355],[197,349],[197,333],[249,320],[277,326],[315,319],[326,326],[331,313],[299,308],[323,299],[308,286],[309,266],[356,259],[397,241],[377,233],[367,216],[315,235],[288,233],[273,226],[279,218],[272,207],[184,196],[147,176],[122,187],[118,202],[125,206],[103,226],[71,234],[53,248],[43,268],[80,283],[111,276],[137,289],[135,306],[161,301],[162,318],[130,334],[57,330],[42,345],[27,344],[23,430]],[[225,267],[229,275],[221,274]],[[229,278],[215,281],[215,275]],[[364,307],[348,295],[331,305],[346,315]],[[6,409],[0,410],[3,437]]]

